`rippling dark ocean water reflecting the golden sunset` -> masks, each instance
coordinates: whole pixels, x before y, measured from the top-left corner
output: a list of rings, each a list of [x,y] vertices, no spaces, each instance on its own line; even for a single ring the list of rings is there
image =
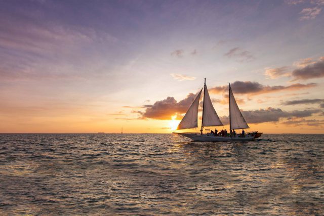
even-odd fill
[[[0,214],[324,215],[324,135],[0,134]]]

